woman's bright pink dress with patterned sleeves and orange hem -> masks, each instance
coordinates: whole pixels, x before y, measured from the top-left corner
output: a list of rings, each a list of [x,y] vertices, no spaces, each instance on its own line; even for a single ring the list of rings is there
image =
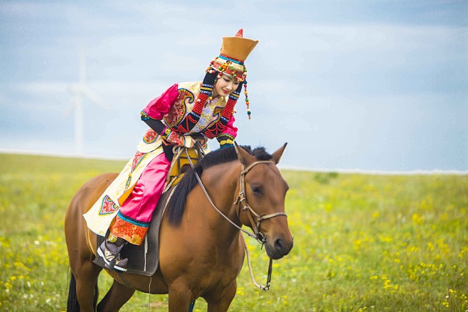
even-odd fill
[[[199,91],[200,82],[184,82],[173,85],[160,97],[149,102],[147,107],[143,109],[142,116],[161,120],[166,127],[172,129],[191,112],[193,99],[196,99]],[[205,105],[201,119],[188,134],[203,133],[204,129],[218,122],[220,112],[223,112],[225,107],[225,99],[220,98],[217,102],[213,101],[211,107],[208,106]],[[237,128],[233,126],[234,121],[235,118],[232,115],[223,133],[216,137],[218,141],[225,142],[235,139]],[[149,144],[156,142],[158,136],[159,134],[149,128],[144,135],[143,144],[149,146]],[[151,149],[152,147],[148,151]],[[138,152],[135,158],[137,156],[141,158],[142,152]],[[110,225],[110,232],[113,235],[122,237],[132,244],[142,244],[151,222],[151,216],[164,189],[170,164],[164,153],[159,154],[147,164],[135,183],[132,193],[120,206]]]

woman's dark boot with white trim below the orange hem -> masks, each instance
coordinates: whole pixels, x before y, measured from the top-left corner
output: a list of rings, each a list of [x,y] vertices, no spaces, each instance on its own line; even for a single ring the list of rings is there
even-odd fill
[[[97,254],[104,259],[105,267],[107,269],[114,269],[119,271],[127,271],[128,258],[121,259],[120,251],[127,244],[127,241],[123,238],[109,235],[104,242],[97,248]]]

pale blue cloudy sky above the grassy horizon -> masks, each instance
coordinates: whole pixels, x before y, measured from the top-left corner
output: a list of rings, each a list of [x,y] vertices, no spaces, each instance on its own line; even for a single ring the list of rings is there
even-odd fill
[[[84,151],[129,158],[139,111],[203,78],[221,38],[260,43],[238,142],[283,166],[468,169],[468,1],[0,1],[0,149],[73,154],[70,85],[85,48]],[[216,149],[217,143],[211,144]]]

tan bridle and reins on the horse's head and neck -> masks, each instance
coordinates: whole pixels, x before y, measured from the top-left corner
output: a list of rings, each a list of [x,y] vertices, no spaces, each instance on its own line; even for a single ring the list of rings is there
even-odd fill
[[[190,162],[190,165],[191,167],[193,168],[193,163],[191,161],[191,158],[190,156],[188,155],[188,151],[186,149],[186,155],[187,155],[187,159],[188,161]],[[201,182],[201,178],[200,176],[198,176],[198,173],[196,173],[196,171],[193,171],[193,173],[195,173],[195,176],[196,176],[196,179],[198,181],[198,184],[200,184],[201,186],[201,189],[203,190],[203,193],[205,193],[206,195],[206,198],[208,198],[208,201],[210,202],[210,204],[213,206],[213,208],[215,208],[215,210],[222,216],[225,218],[225,220],[228,220],[228,222],[230,222],[231,225],[233,225],[234,227],[236,227],[238,230],[244,232],[245,234],[247,234],[248,236],[254,238],[255,240],[257,240],[257,242],[260,242],[260,244],[262,244],[262,247],[263,247],[263,244],[265,244],[265,242],[267,242],[267,237],[262,233],[260,232],[260,222],[262,222],[263,220],[267,220],[267,219],[270,219],[272,217],[277,217],[278,215],[286,215],[286,213],[272,213],[270,215],[258,215],[257,213],[255,213],[255,210],[252,209],[252,207],[250,207],[250,205],[248,204],[247,202],[247,198],[245,196],[245,175],[250,171],[250,169],[252,169],[255,165],[259,164],[259,163],[273,163],[276,165],[275,161],[255,161],[253,163],[251,163],[247,168],[245,168],[244,164],[242,164],[242,167],[241,167],[241,171],[240,171],[240,190],[239,190],[239,195],[237,197],[237,199],[235,200],[235,202],[233,203],[233,205],[238,205],[239,208],[236,209],[236,212],[237,212],[237,215],[238,215],[238,219],[240,220],[240,213],[242,211],[246,211],[248,213],[248,218],[250,220],[250,223],[252,225],[252,230],[254,232],[254,234],[244,230],[242,227],[239,227],[238,225],[236,225],[232,220],[230,220],[228,217],[226,217],[217,207],[216,205],[213,203],[213,201],[211,200],[210,198],[210,195],[208,195],[208,192],[206,191],[206,188],[205,188],[205,185],[203,185],[203,183]],[[241,203],[244,203],[243,204],[243,208],[241,209]],[[255,221],[253,220],[253,216],[255,216],[257,218],[257,222],[255,223]],[[242,224],[242,223],[241,223]],[[243,237],[244,238],[244,237]],[[244,246],[245,246],[245,254],[247,255],[247,262],[248,262],[248,267],[249,267],[249,273],[250,273],[250,277],[252,279],[252,283],[254,284],[254,286],[256,286],[257,288],[259,289],[262,289],[262,291],[268,291],[270,289],[270,281],[272,279],[272,267],[273,267],[273,259],[270,258],[270,264],[268,265],[268,274],[267,274],[267,284],[266,286],[263,286],[261,284],[257,284],[257,282],[255,281],[255,278],[252,274],[252,265],[250,264],[250,254],[249,254],[249,249],[247,247],[247,243],[245,242],[245,239],[244,240]]]

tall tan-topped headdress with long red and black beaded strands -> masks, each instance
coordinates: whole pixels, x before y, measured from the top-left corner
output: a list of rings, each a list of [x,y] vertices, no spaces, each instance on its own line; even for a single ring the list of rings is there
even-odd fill
[[[217,122],[212,127],[206,129],[205,135],[208,138],[213,138],[220,133],[228,124],[228,121],[233,114],[235,103],[239,99],[242,86],[245,86],[245,104],[247,104],[247,114],[250,119],[250,104],[247,92],[247,69],[244,61],[255,48],[258,41],[243,38],[243,30],[240,29],[234,37],[223,37],[223,45],[221,45],[220,55],[211,60],[210,65],[206,68],[206,75],[201,83],[200,93],[193,106],[191,114],[185,121],[179,124],[179,131],[188,132],[196,124],[200,118],[201,112],[207,100],[213,99],[213,89],[216,82],[222,75],[230,75],[240,82],[238,89],[231,93],[228,97],[228,102],[223,109],[220,122]]]

